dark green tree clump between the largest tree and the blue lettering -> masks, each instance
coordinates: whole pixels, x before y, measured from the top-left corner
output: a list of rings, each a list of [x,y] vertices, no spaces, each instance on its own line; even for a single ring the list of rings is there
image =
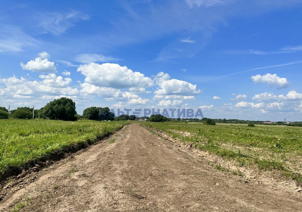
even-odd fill
[[[108,107],[88,107],[83,111],[83,118],[89,120],[114,120],[114,113]]]

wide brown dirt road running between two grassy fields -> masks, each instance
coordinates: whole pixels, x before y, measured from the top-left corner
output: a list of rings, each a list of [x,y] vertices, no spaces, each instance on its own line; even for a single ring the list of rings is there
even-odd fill
[[[301,196],[218,171],[139,123],[112,138],[37,173],[0,210],[21,200],[19,211],[302,211]]]

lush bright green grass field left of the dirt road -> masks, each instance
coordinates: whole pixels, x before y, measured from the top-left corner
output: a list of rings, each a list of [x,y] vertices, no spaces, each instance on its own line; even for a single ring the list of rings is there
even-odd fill
[[[92,144],[120,129],[127,122],[79,120],[0,120],[0,176],[9,169]]]

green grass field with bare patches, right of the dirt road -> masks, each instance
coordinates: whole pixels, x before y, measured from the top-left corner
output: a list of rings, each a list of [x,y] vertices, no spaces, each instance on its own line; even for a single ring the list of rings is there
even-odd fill
[[[302,128],[240,124],[150,123],[185,143],[214,153],[239,166],[256,166],[260,171],[280,171],[302,183]]]

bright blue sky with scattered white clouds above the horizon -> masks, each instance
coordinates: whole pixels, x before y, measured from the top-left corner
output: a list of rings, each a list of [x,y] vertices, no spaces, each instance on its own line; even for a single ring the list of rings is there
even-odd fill
[[[301,1],[3,1],[0,104],[302,121]]]

